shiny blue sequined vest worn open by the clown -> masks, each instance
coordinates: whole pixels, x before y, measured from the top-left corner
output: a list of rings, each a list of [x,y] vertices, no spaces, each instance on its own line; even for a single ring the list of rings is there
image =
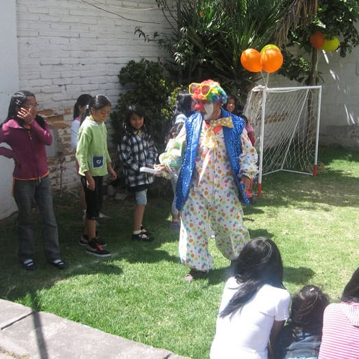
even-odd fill
[[[227,149],[228,157],[230,158],[230,164],[232,166],[232,170],[234,173],[234,178],[236,180],[236,184],[239,187],[240,182],[240,164],[239,164],[239,156],[242,153],[241,150],[241,134],[243,129],[245,128],[245,121],[240,117],[227,112],[225,110],[221,110],[221,117],[232,117],[232,122],[234,127],[229,128],[223,126],[223,135],[225,138],[225,147]],[[190,182],[193,175],[193,170],[195,168],[195,160],[197,156],[197,148],[199,145],[199,138],[201,135],[201,127],[203,123],[203,117],[200,112],[196,112],[188,121],[186,121],[186,151],[184,153],[184,160],[182,162],[182,169],[180,175],[177,180],[176,187],[176,208],[178,210],[182,210],[184,206],[184,202],[187,199],[189,190],[190,190]],[[249,177],[253,177],[249,175]]]

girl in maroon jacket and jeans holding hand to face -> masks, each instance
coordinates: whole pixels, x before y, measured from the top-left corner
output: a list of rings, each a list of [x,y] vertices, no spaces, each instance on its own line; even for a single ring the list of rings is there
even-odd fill
[[[16,92],[10,101],[8,117],[0,126],[0,156],[15,162],[13,193],[18,206],[18,257],[23,268],[34,270],[34,232],[32,206],[38,205],[44,222],[45,254],[50,264],[64,269],[60,259],[58,225],[53,213],[53,199],[45,145],[52,143],[49,125],[37,114],[38,103],[32,92]]]

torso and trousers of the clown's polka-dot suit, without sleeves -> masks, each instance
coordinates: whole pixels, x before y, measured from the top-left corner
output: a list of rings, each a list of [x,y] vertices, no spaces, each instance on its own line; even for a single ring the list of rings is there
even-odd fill
[[[202,134],[205,132],[203,128]],[[212,231],[216,247],[229,260],[238,258],[249,241],[223,130],[216,134],[215,140],[218,143],[215,149],[198,148],[190,193],[181,216],[181,261],[200,271],[213,267],[213,258],[208,252]]]

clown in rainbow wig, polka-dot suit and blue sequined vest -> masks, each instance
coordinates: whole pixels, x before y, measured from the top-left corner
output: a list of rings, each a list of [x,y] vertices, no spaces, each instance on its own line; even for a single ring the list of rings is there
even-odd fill
[[[227,95],[212,79],[190,84],[197,104],[173,143],[160,156],[162,171],[182,166],[176,188],[181,210],[180,258],[190,268],[185,280],[205,276],[213,267],[208,240],[214,232],[216,247],[236,260],[249,241],[243,225],[240,184],[244,190],[256,177],[257,153],[245,130],[245,121],[221,108]]]

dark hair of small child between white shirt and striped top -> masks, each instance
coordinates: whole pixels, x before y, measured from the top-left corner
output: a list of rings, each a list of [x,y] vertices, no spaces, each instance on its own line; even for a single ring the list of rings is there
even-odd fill
[[[304,286],[292,301],[290,321],[293,336],[299,331],[320,333],[323,327],[323,312],[329,298],[317,286]]]

